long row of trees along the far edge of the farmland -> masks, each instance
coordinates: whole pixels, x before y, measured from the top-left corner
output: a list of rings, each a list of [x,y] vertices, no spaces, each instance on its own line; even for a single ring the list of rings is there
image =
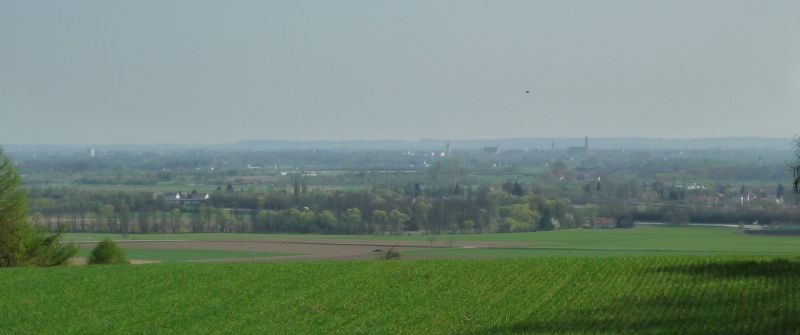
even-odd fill
[[[630,199],[632,183],[604,182]],[[601,184],[597,184],[601,185]],[[596,192],[599,187],[591,187]],[[302,190],[302,186],[300,187]],[[578,227],[592,217],[661,222],[791,223],[794,206],[754,202],[747,206],[695,205],[691,202],[633,205],[611,198],[593,210],[573,208],[568,200],[548,199],[518,182],[500,187],[421,187],[399,191],[215,192],[199,206],[171,207],[137,192],[85,192],[40,189],[32,194],[33,221],[48,229],[148,232],[285,232],[323,234],[399,234],[404,232],[481,233]],[[680,200],[680,198],[678,198]]]

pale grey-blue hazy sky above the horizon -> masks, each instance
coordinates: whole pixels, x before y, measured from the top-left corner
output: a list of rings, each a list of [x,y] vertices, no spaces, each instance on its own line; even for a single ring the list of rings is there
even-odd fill
[[[798,120],[800,1],[0,2],[0,144],[788,137]]]

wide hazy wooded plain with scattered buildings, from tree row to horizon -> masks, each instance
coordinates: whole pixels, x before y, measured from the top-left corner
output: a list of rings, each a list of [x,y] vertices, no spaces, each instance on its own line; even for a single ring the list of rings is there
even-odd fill
[[[620,227],[800,222],[800,198],[785,191],[790,152],[431,153],[143,149],[13,157],[34,224],[70,233],[471,235],[586,228],[598,218]]]

